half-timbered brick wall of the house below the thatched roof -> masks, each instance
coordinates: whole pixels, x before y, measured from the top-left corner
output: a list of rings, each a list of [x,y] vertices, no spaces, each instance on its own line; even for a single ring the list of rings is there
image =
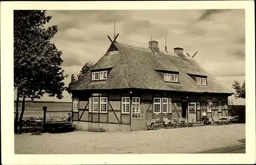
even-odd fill
[[[146,120],[163,119],[172,117],[182,117],[182,96],[172,96],[170,94],[152,94],[152,93],[98,93],[92,97],[107,97],[108,98],[108,112],[107,113],[93,113],[89,112],[89,96],[79,98],[78,112],[72,111],[72,120],[92,123],[111,123],[131,125],[132,114],[132,97],[140,98],[140,105],[146,105]],[[130,114],[121,112],[122,97],[130,98]],[[172,113],[154,113],[154,98],[170,98],[172,99]],[[212,101],[211,112],[207,112],[207,100]],[[211,96],[188,96],[187,102],[199,103],[197,108],[197,122],[201,121],[201,114],[205,110],[207,116],[227,116],[228,114],[228,100],[227,97],[211,97]],[[99,103],[100,104],[100,103]],[[168,105],[169,106],[169,105]],[[187,117],[187,116],[186,116]]]

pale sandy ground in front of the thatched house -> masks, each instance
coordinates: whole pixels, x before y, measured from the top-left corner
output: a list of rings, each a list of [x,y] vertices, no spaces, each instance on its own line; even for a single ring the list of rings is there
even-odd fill
[[[245,124],[134,132],[15,135],[15,154],[196,153],[239,145]]]

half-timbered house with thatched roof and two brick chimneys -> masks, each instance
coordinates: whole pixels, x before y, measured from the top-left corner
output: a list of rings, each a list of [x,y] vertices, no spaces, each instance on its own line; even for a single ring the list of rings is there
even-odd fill
[[[138,48],[114,40],[70,91],[73,120],[85,122],[79,128],[86,130],[89,123],[100,123],[107,130],[144,129],[143,124],[133,124],[143,117],[200,122],[204,110],[208,116],[227,115],[227,97],[232,95],[193,58],[183,55],[182,48],[159,51],[157,41]],[[147,105],[146,112],[133,105]],[[99,128],[90,125],[94,127]]]

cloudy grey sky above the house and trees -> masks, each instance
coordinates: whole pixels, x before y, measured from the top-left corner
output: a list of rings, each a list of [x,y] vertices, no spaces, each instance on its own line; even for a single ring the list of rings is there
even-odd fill
[[[62,54],[62,68],[70,75],[78,74],[87,61],[97,62],[108,50],[108,35],[119,33],[117,42],[147,48],[151,39],[164,51],[184,49],[225,87],[232,90],[232,81],[245,80],[245,11],[243,9],[212,10],[48,10],[52,19],[46,27],[58,25],[52,38]],[[42,101],[71,101],[68,92],[63,99],[45,95]],[[234,99],[233,104],[245,104]],[[16,100],[16,93],[14,93]]]

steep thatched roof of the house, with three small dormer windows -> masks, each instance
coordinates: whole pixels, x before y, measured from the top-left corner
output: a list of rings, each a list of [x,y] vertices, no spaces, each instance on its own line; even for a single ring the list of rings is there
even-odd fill
[[[153,53],[150,49],[115,43],[118,51],[106,52],[88,72],[74,85],[72,90],[87,89],[155,89],[186,92],[232,92],[210,76],[191,57],[179,57],[175,53]],[[91,70],[112,68],[108,79],[92,82]],[[179,83],[164,82],[156,70],[179,72]],[[197,85],[188,74],[207,76],[207,85]]]

